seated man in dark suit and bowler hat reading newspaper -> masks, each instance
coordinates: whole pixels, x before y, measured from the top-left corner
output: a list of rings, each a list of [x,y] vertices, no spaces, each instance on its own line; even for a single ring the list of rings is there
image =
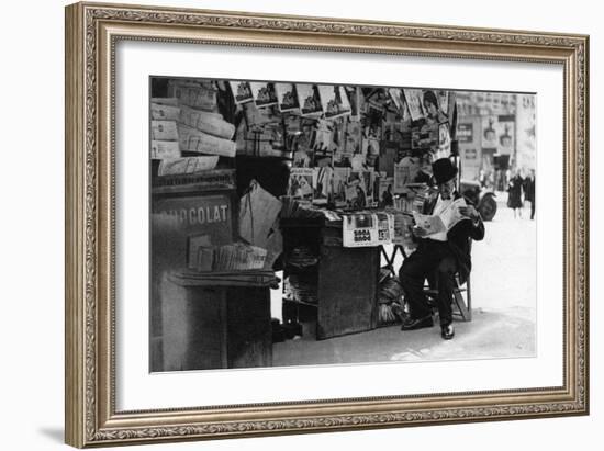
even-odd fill
[[[471,270],[470,238],[484,238],[484,225],[477,210],[456,191],[457,168],[450,159],[438,159],[432,167],[438,195],[427,199],[424,214],[414,214],[413,235],[418,246],[404,260],[399,272],[410,306],[410,316],[403,320],[402,330],[433,326],[432,308],[424,294],[424,281],[434,277],[438,290],[436,303],[440,336],[449,340],[455,335],[451,325],[454,278],[458,273],[461,283],[467,280]]]

